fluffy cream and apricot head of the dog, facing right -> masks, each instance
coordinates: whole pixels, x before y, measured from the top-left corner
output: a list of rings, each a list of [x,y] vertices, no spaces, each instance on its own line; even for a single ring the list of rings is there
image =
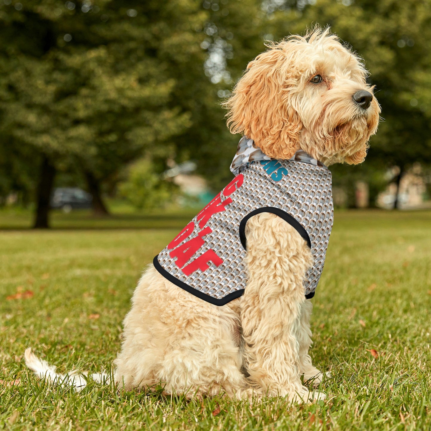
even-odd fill
[[[228,126],[275,159],[302,149],[326,165],[361,163],[380,113],[366,76],[329,29],[290,36],[249,63],[225,102]]]

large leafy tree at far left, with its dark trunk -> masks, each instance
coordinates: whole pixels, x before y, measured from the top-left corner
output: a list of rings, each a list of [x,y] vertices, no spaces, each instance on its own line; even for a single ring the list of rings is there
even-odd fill
[[[48,226],[47,187],[58,166],[78,164],[97,195],[102,181],[145,150],[166,156],[170,138],[191,125],[172,98],[176,82],[164,53],[203,62],[194,27],[205,13],[192,0],[136,5],[0,6],[0,131],[11,142],[6,157],[28,147],[40,160],[35,227]]]

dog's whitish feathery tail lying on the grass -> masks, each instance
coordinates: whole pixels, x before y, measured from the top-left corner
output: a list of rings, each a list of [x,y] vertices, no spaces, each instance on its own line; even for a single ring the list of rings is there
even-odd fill
[[[87,372],[79,373],[72,371],[67,374],[57,374],[56,367],[48,364],[47,361],[39,359],[32,351],[31,347],[24,352],[25,365],[37,375],[38,378],[44,379],[53,384],[59,384],[61,387],[73,387],[76,392],[84,389],[87,385]],[[110,376],[105,372],[92,374],[93,380],[98,383],[109,383]]]

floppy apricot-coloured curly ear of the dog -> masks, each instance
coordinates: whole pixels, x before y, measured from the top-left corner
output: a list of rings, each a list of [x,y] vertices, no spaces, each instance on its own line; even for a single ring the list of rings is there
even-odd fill
[[[290,159],[299,150],[302,129],[290,100],[288,44],[280,43],[250,62],[224,103],[231,133],[253,139],[274,159]]]

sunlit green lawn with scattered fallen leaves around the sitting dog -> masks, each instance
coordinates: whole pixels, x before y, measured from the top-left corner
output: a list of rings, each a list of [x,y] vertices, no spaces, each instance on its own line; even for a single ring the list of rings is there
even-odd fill
[[[0,429],[431,429],[431,212],[335,214],[312,300],[312,357],[332,372],[324,402],[200,403],[92,381],[75,394],[28,373],[28,346],[60,372],[109,369],[143,267],[191,215],[59,214],[64,229],[0,232]]]

